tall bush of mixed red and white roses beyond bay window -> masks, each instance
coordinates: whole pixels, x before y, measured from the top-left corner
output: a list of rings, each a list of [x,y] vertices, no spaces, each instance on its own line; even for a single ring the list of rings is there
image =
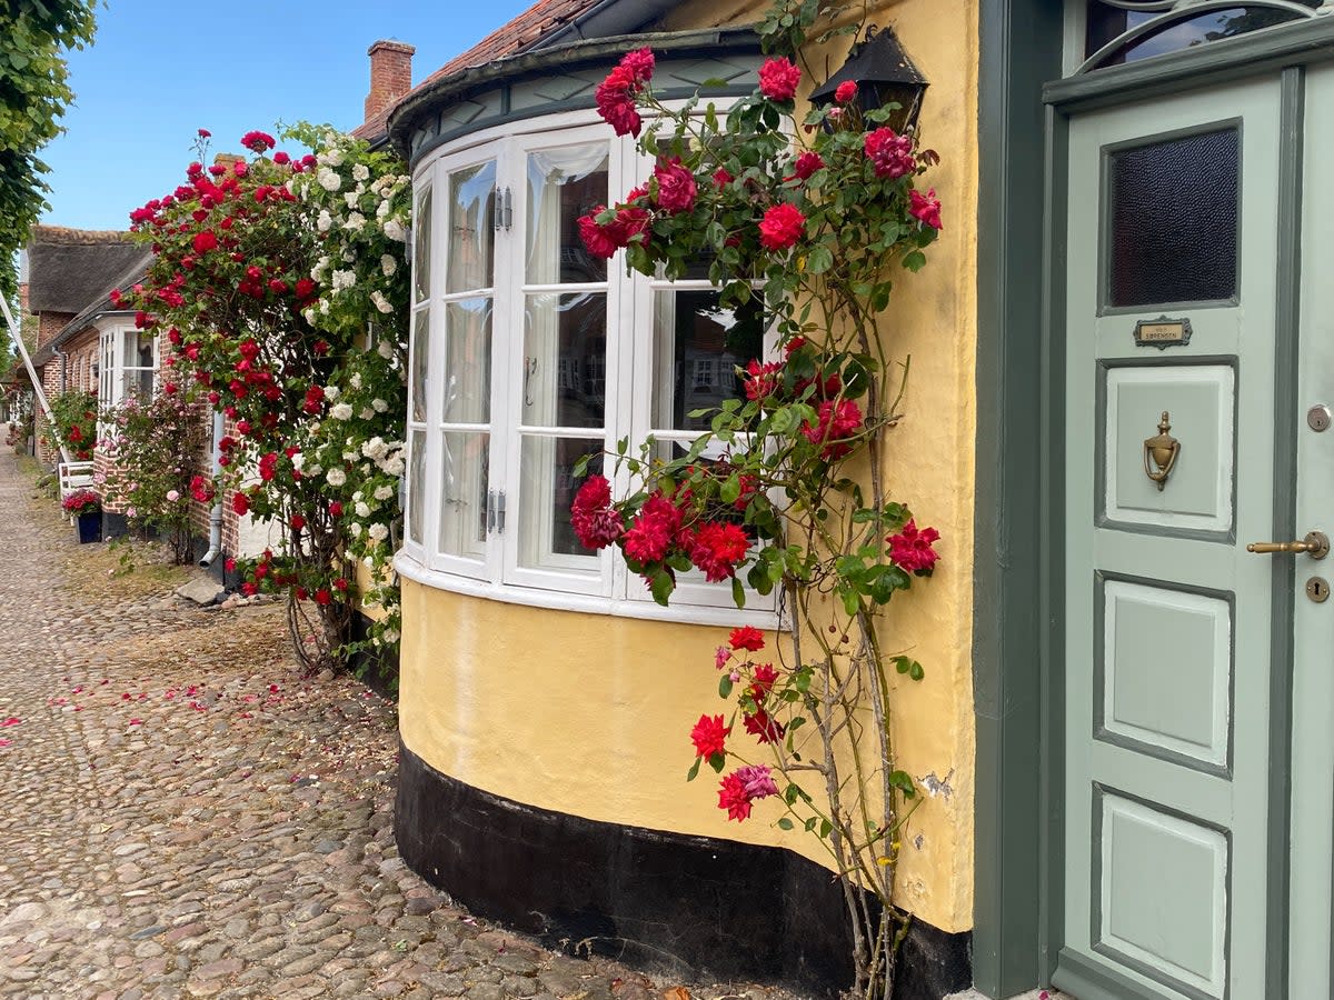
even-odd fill
[[[227,419],[223,473],[196,476],[200,501],[281,528],[235,568],[247,593],[288,597],[297,655],[315,669],[350,641],[358,587],[379,605],[372,647],[398,641],[390,572],[403,467],[408,177],[387,152],[327,128],[275,151],[248,132],[249,159],[200,157],[185,183],[131,215],[153,264],[127,297],[136,324],[165,331],[163,391],[205,399]]]

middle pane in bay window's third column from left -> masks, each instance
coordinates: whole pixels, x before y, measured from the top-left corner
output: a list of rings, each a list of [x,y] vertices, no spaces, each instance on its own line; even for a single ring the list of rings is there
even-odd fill
[[[602,427],[607,397],[607,296],[531,295],[527,305],[524,425]]]

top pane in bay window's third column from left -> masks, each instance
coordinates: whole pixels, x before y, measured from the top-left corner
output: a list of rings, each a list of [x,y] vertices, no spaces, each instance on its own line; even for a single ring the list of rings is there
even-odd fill
[[[528,284],[607,280],[579,237],[579,216],[606,203],[606,143],[528,155]]]

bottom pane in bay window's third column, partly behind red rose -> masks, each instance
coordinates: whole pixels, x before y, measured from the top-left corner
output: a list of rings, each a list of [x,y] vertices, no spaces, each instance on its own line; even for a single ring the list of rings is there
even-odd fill
[[[570,527],[570,504],[587,476],[602,472],[600,455],[584,477],[574,467],[584,455],[602,452],[600,437],[523,436],[520,453],[519,564],[534,569],[591,569],[598,557],[579,544]]]

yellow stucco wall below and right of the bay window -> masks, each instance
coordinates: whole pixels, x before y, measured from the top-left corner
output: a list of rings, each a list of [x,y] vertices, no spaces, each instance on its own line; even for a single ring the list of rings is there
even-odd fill
[[[950,932],[972,925],[976,1],[871,4],[871,20],[894,27],[930,80],[919,129],[942,155],[924,183],[940,196],[944,229],[926,269],[898,283],[883,331],[912,359],[907,419],[884,451],[890,492],[939,528],[942,561],[891,605],[884,643],[927,669],[896,696],[899,765],[948,787],[911,819],[898,896]],[[664,27],[744,23],[763,7],[692,0]],[[842,52],[812,55],[816,67],[843,61]],[[724,711],[712,669],[723,629],[487,601],[408,580],[403,619],[403,739],[443,773],[546,809],[824,860],[808,836],[766,825],[760,807],[728,823],[710,771],[684,781],[691,724]]]

